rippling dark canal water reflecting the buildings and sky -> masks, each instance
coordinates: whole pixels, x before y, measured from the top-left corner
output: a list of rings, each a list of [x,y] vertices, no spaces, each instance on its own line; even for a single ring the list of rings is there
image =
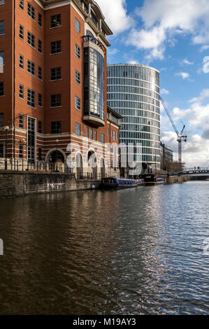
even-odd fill
[[[0,200],[0,314],[209,314],[208,191]]]

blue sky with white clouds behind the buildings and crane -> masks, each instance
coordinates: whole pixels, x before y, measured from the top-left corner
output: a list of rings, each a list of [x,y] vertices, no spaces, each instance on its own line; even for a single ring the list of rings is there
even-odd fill
[[[209,167],[209,1],[97,0],[113,36],[108,63],[138,63],[160,71],[161,97],[179,130],[186,124],[187,166]],[[161,140],[178,143],[165,111]]]

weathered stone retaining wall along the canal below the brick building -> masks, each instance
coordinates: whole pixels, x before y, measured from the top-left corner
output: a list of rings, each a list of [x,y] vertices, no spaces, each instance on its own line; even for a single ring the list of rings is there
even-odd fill
[[[76,181],[74,174],[0,172],[0,197],[99,188],[100,181]]]

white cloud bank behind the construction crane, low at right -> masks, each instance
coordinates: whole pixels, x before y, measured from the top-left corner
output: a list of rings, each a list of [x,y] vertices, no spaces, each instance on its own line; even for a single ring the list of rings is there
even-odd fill
[[[209,165],[209,102],[203,104],[209,98],[209,89],[203,89],[198,97],[192,98],[188,109],[175,107],[171,116],[175,123],[183,120],[186,124],[187,143],[182,144],[182,158],[187,167],[202,166],[208,161]],[[168,131],[166,117],[162,120],[163,129],[161,141],[171,146],[174,158],[178,160],[178,143],[174,131]]]

